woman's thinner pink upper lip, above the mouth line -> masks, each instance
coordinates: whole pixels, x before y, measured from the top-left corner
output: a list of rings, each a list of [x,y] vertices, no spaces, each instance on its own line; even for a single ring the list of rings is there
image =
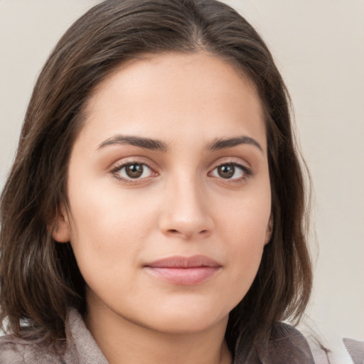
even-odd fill
[[[221,267],[221,264],[214,259],[204,255],[194,255],[193,257],[168,257],[146,264],[152,268],[197,268],[197,267]]]

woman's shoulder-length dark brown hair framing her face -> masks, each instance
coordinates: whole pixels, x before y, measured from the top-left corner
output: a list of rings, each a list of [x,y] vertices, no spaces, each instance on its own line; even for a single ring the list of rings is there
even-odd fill
[[[267,131],[272,237],[257,276],[230,313],[225,338],[262,351],[274,323],[298,322],[311,293],[307,199],[290,100],[262,38],[215,0],[107,0],[79,18],[50,54],[31,96],[18,151],[1,195],[0,320],[28,338],[65,338],[70,306],[85,309],[85,282],[70,243],[52,238],[67,203],[70,151],[92,91],[126,60],[146,53],[205,52],[257,87]],[[304,164],[302,164],[304,166]]]

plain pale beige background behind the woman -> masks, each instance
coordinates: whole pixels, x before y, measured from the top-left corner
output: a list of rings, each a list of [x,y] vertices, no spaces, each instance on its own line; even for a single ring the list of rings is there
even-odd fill
[[[39,70],[97,2],[0,0],[0,187]],[[226,2],[262,34],[291,92],[315,188],[306,321],[338,350],[341,337],[364,340],[364,0]]]

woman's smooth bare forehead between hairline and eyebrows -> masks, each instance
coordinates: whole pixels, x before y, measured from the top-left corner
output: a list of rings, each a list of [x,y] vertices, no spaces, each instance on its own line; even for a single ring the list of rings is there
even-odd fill
[[[159,139],[199,133],[213,139],[247,129],[244,134],[256,134],[265,144],[255,85],[232,64],[205,53],[129,60],[96,87],[86,109],[81,134],[100,139],[120,132]]]

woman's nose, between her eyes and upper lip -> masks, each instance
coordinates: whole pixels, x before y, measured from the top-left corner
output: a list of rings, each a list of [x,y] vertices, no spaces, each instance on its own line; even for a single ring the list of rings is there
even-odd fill
[[[159,228],[164,235],[186,240],[210,236],[214,228],[208,199],[192,178],[168,183]]]

